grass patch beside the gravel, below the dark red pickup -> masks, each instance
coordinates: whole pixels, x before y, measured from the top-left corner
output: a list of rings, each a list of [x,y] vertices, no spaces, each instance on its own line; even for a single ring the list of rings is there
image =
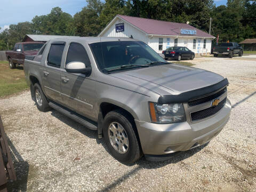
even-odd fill
[[[28,88],[22,67],[10,69],[8,61],[0,61],[0,97],[18,93]]]

